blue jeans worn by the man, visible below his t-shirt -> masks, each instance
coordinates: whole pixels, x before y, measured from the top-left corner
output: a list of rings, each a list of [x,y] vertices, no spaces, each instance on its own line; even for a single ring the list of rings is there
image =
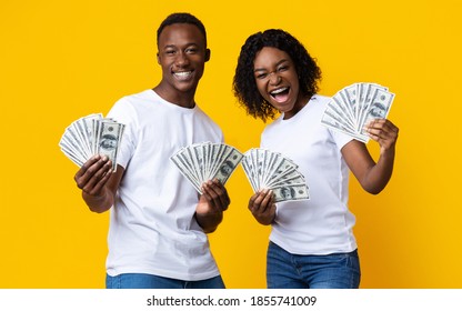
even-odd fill
[[[224,289],[221,275],[201,280],[182,281],[143,273],[106,274],[107,289]]]

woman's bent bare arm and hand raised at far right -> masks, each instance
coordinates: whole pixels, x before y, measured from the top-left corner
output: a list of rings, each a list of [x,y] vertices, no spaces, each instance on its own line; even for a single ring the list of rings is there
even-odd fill
[[[364,143],[352,140],[342,148],[343,158],[361,187],[372,194],[380,193],[393,172],[399,129],[386,119],[371,121],[365,128],[372,140],[380,144],[375,162]]]

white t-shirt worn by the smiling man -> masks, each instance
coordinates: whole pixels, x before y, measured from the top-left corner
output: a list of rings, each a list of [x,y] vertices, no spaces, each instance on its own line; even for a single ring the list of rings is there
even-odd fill
[[[198,192],[169,159],[192,143],[222,142],[220,128],[195,106],[145,90],[116,102],[108,117],[125,124],[118,163],[125,171],[110,210],[107,272],[197,281],[220,274],[195,221]]]

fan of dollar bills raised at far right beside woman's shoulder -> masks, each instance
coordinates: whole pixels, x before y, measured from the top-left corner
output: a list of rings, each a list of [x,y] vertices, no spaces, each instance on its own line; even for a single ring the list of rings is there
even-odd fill
[[[376,83],[354,83],[338,91],[328,103],[321,123],[368,142],[364,126],[373,119],[386,118],[394,93]]]

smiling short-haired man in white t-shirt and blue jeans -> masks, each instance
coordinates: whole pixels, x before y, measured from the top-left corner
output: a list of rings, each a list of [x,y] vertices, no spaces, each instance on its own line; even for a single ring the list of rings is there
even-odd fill
[[[223,141],[194,101],[210,59],[205,29],[189,13],[173,13],[157,40],[161,81],[120,99],[108,114],[125,124],[117,171],[96,156],[74,179],[91,211],[110,210],[107,288],[224,288],[205,233],[222,221],[227,190],[211,180],[199,195],[169,160],[184,146]]]

